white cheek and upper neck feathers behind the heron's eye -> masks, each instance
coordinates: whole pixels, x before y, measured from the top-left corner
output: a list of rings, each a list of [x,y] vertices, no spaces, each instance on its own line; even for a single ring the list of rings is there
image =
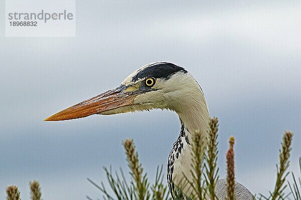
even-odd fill
[[[207,103],[203,91],[191,74],[178,72],[167,80],[158,78],[153,88],[158,90],[137,95],[134,102],[147,102],[152,103],[153,108],[174,110],[192,130],[207,127]]]

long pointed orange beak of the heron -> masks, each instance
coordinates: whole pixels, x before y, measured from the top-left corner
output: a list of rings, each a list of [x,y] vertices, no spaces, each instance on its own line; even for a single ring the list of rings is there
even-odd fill
[[[126,86],[110,89],[97,96],[72,105],[58,113],[49,116],[44,121],[59,121],[86,117],[91,114],[101,114],[102,112],[132,105],[138,91],[126,91]]]

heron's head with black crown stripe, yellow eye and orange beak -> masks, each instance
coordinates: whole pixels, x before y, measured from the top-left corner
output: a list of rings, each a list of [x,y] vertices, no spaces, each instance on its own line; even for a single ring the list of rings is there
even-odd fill
[[[68,107],[46,121],[81,118],[91,114],[117,114],[150,109],[181,112],[194,95],[203,93],[183,67],[170,62],[146,64],[128,75],[121,84]]]

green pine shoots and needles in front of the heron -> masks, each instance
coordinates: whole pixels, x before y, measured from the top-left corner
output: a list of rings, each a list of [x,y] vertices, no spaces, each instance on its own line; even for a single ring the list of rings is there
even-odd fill
[[[177,193],[174,194],[176,199],[210,199],[218,200],[218,196],[215,193],[215,186],[218,181],[218,119],[213,117],[209,121],[209,143],[205,145],[202,139],[202,133],[196,131],[192,142],[193,150],[193,164],[192,174],[193,178],[188,179],[186,176],[183,181],[185,185],[192,188],[192,193],[186,196],[181,192],[181,188],[178,189]],[[265,200],[278,200],[278,199],[293,199],[301,200],[301,180],[300,177],[297,179],[293,172],[291,172],[292,183],[286,181],[289,174],[289,157],[291,152],[292,143],[292,132],[285,131],[283,133],[281,148],[279,149],[279,163],[276,165],[276,182],[274,189],[268,192],[268,195],[257,194],[254,195],[253,199],[265,199]],[[234,193],[235,186],[235,167],[234,167],[234,137],[229,138],[229,149],[226,153],[226,164],[227,164],[227,179],[226,188],[227,195],[226,200],[236,199]],[[138,153],[135,150],[135,145],[132,139],[125,139],[123,141],[125,149],[126,160],[129,167],[130,178],[127,179],[123,170],[112,171],[112,168],[104,167],[106,173],[107,182],[110,187],[110,191],[107,190],[105,184],[95,183],[93,180],[88,178],[88,181],[96,186],[101,192],[102,197],[105,200],[171,200],[169,189],[167,185],[163,183],[164,174],[163,166],[157,167],[157,173],[155,182],[151,184],[148,181],[148,176],[143,172],[142,164],[139,162]],[[205,152],[205,153],[204,153]],[[301,176],[301,157],[299,158],[299,168]],[[287,186],[289,192],[285,193]],[[41,188],[38,181],[30,182],[31,199],[41,200]],[[182,188],[183,189],[183,188]],[[20,200],[20,192],[16,185],[8,186],[7,189],[7,200]],[[93,200],[87,196],[88,200]],[[219,199],[224,200],[224,199]]]

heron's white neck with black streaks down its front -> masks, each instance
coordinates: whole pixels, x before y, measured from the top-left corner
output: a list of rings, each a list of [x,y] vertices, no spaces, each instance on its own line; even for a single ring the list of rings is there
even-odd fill
[[[186,174],[188,178],[193,177],[191,173],[192,148],[190,147],[191,141],[193,141],[192,137],[195,131],[200,130],[204,135],[203,138],[207,141],[206,132],[209,120],[207,103],[201,92],[197,98],[190,98],[187,102],[182,101],[182,106],[177,107],[179,109],[175,111],[181,121],[181,131],[173,144],[168,159],[167,178],[171,191],[174,191],[175,185],[183,186],[183,174]],[[184,193],[191,192],[190,187],[183,187],[187,188],[183,190]]]

